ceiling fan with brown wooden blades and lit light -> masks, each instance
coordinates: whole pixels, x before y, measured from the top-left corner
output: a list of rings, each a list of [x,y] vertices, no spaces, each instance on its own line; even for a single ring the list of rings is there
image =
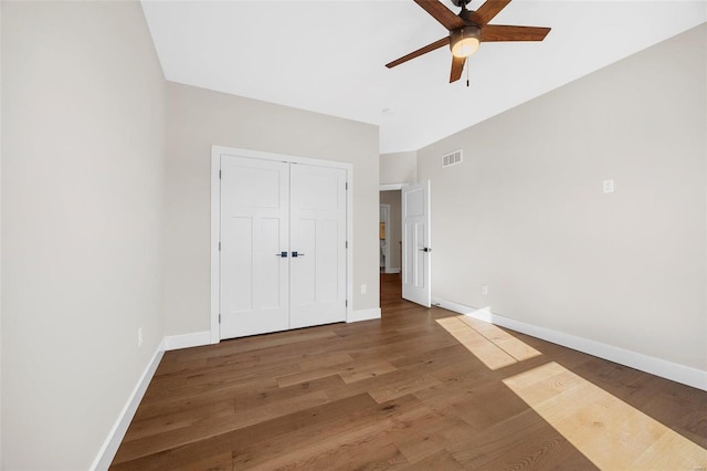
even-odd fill
[[[392,69],[411,59],[449,45],[452,50],[452,72],[450,73],[450,83],[452,83],[460,80],[466,57],[476,52],[479,43],[495,41],[542,41],[550,32],[549,28],[541,27],[488,24],[500,10],[510,3],[510,0],[486,0],[476,11],[466,9],[471,0],[452,0],[454,6],[462,8],[460,14],[454,14],[439,0],[414,0],[414,2],[442,23],[444,28],[450,30],[450,35],[386,64],[388,69]]]

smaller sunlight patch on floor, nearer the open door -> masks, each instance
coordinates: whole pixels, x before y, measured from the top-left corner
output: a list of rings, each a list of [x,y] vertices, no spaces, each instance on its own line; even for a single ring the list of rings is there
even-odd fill
[[[437,324],[490,369],[499,369],[541,355],[523,341],[484,321],[453,316],[439,318]]]

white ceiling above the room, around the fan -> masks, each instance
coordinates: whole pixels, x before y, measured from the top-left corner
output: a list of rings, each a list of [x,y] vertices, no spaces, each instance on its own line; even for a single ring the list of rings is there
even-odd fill
[[[483,43],[466,87],[466,70],[449,83],[446,48],[384,67],[447,34],[412,0],[143,8],[168,80],[376,124],[383,154],[419,149],[707,21],[706,0],[515,0],[490,24],[552,31],[544,42]]]

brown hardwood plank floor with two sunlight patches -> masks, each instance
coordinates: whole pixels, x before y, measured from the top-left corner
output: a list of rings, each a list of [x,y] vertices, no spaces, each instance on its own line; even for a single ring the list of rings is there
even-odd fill
[[[707,393],[381,293],[166,353],[112,469],[707,469]]]

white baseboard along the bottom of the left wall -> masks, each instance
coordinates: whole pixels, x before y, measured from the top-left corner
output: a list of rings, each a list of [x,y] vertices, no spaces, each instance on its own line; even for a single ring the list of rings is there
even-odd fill
[[[103,471],[110,467],[110,463],[115,458],[115,453],[118,451],[118,447],[120,447],[120,442],[125,437],[125,432],[128,430],[128,426],[133,421],[133,417],[135,417],[137,407],[140,405],[143,396],[145,396],[147,386],[150,384],[150,380],[152,380],[157,366],[162,359],[162,355],[165,355],[165,339],[162,339],[162,342],[157,346],[155,355],[152,355],[152,358],[147,364],[147,368],[143,371],[143,376],[140,376],[140,379],[137,381],[135,389],[133,389],[133,394],[130,394],[128,401],[120,411],[118,420],[116,420],[110,432],[108,432],[108,438],[106,438],[103,447],[101,447],[98,456],[91,465],[92,471]]]

